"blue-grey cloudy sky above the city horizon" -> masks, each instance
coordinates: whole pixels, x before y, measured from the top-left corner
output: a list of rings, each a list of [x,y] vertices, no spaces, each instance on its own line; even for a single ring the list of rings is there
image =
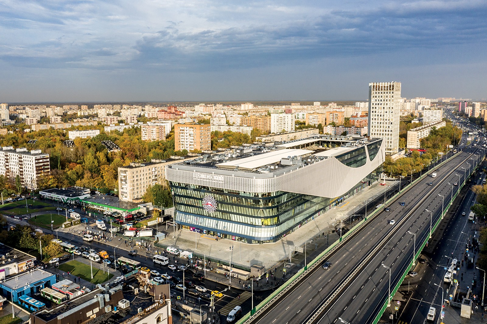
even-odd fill
[[[487,0],[0,0],[0,102],[487,98]]]

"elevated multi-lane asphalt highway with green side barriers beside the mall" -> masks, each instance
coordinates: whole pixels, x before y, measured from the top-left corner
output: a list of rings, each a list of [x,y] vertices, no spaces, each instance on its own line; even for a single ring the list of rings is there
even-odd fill
[[[420,242],[429,237],[442,202],[446,206],[451,190],[458,190],[454,183],[463,182],[484,156],[484,150],[471,147],[443,165],[436,178],[420,180],[388,206],[390,212],[378,214],[347,239],[326,260],[332,262],[328,270],[319,266],[310,270],[248,323],[335,323],[338,318],[371,323],[387,300],[389,274],[394,287],[412,261],[413,247],[419,251]]]

